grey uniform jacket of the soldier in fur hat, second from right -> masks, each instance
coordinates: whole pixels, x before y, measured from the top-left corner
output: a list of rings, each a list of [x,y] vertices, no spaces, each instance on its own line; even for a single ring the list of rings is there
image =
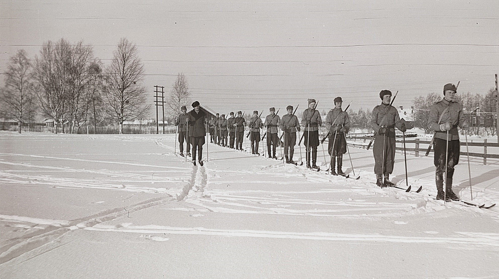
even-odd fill
[[[384,117],[386,115],[386,117]],[[384,120],[383,120],[384,118]],[[383,121],[383,123],[381,123]],[[387,136],[395,137],[395,127],[397,129],[402,128],[402,122],[400,121],[399,112],[394,106],[391,105],[377,105],[373,108],[371,116],[371,127],[376,133],[378,133],[379,128],[387,128]]]

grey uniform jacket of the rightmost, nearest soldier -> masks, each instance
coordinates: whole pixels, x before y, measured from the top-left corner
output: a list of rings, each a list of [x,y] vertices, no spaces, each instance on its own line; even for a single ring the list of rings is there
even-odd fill
[[[441,116],[442,120],[439,122]],[[452,124],[451,130],[449,130],[449,140],[459,140],[458,126],[463,128],[468,125],[463,113],[463,106],[460,103],[449,102],[443,98],[432,106],[428,115],[428,128],[435,131],[436,138],[447,139],[447,131],[440,130],[440,124],[445,122]]]

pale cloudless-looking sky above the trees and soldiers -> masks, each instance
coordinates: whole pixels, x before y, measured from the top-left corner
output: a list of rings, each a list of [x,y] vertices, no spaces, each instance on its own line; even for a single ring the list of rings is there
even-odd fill
[[[220,113],[301,111],[308,98],[329,110],[336,96],[372,109],[382,89],[410,106],[448,82],[485,93],[499,72],[498,0],[0,2],[0,72],[17,49],[32,58],[61,37],[109,63],[127,37],[150,101],[183,72],[193,101]]]

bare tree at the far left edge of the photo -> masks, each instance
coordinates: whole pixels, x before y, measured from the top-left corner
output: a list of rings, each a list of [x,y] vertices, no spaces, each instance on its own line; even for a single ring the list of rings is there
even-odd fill
[[[5,73],[5,86],[1,91],[0,113],[5,118],[17,121],[19,133],[22,123],[31,119],[35,112],[30,69],[26,51],[18,50],[10,57]]]

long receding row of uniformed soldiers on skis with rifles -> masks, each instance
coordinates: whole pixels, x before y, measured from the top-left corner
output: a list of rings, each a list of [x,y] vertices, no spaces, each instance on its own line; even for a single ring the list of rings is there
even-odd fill
[[[460,155],[457,128],[467,129],[468,123],[463,114],[463,106],[454,101],[456,93],[457,87],[454,84],[446,84],[444,86],[444,98],[432,106],[428,118],[428,127],[435,131],[435,181],[438,193],[437,199],[441,200],[459,200],[459,197],[452,191],[454,167],[458,164]],[[371,116],[371,127],[374,130],[374,173],[376,174],[376,184],[379,187],[395,186],[389,179],[395,164],[395,128],[405,132],[408,127],[406,127],[405,121],[400,119],[397,109],[391,105],[392,92],[382,90],[379,96],[381,104],[374,107]],[[348,113],[342,110],[342,103],[341,97],[334,99],[335,107],[328,112],[324,122],[328,131],[326,137],[328,137],[328,153],[331,156],[330,170],[333,175],[344,175],[342,171],[343,154],[347,152],[346,134],[350,129]],[[199,103],[197,104],[199,105]],[[317,102],[314,99],[308,100],[308,108],[302,113],[301,123],[294,115],[292,106],[286,107],[287,114],[282,118],[279,118],[275,113],[275,108],[270,108],[270,114],[265,117],[263,123],[258,116],[258,111],[253,111],[253,116],[249,121],[250,133],[248,135],[250,136],[251,153],[259,155],[260,129],[266,127],[265,136],[267,137],[268,157],[277,159],[275,150],[280,143],[278,137],[278,128],[280,128],[282,131],[281,138],[283,137],[284,140],[286,163],[295,163],[293,154],[297,139],[296,132],[299,135],[301,127],[303,127],[307,168],[319,169],[316,165],[317,147],[320,143],[319,129],[323,123],[320,113],[315,109],[316,105]],[[184,116],[186,113],[185,107],[182,107],[182,112],[183,114],[179,116],[176,122],[176,125],[179,125],[181,153],[183,152],[182,143],[187,136],[184,135],[184,132],[181,134],[182,129],[180,128],[183,119],[186,118]],[[189,119],[189,116],[187,116],[187,119]],[[235,138],[236,149],[242,150],[246,121],[241,111],[238,112],[238,117],[234,117],[232,112],[229,119],[226,119],[224,114],[221,116],[217,114],[209,122],[208,119],[205,122],[209,127],[211,142],[227,146],[227,134],[229,132],[231,139],[229,147],[234,148]],[[189,153],[189,144],[187,144],[187,152]],[[335,166],[337,167],[336,171]]]

